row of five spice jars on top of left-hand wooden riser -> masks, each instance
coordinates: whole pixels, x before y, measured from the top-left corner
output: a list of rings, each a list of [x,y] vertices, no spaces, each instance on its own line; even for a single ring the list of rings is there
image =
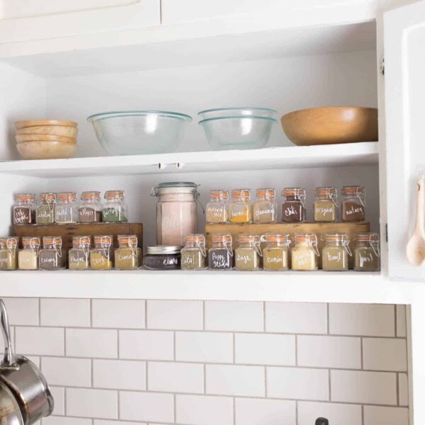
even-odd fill
[[[38,198],[38,200],[37,200]],[[74,223],[125,223],[128,208],[124,191],[106,191],[104,201],[101,193],[76,192],[19,193],[13,205],[14,225],[69,225]]]

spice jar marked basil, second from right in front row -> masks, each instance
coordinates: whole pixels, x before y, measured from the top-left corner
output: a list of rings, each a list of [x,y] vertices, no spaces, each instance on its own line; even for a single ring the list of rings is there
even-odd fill
[[[352,256],[350,240],[345,233],[325,233],[322,235],[322,269],[326,271],[347,271],[348,256]]]

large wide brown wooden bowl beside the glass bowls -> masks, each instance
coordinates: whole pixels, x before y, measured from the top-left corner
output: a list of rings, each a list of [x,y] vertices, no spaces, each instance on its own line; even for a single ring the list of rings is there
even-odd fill
[[[348,107],[311,108],[280,118],[288,139],[298,146],[376,142],[378,109]]]

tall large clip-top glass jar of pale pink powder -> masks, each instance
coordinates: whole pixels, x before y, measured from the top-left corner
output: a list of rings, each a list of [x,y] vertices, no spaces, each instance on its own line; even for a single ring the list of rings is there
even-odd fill
[[[157,244],[183,245],[184,237],[198,230],[198,185],[191,182],[160,183],[157,197]]]

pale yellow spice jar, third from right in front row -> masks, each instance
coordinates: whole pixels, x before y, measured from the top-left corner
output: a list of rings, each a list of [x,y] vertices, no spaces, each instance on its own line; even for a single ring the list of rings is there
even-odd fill
[[[317,236],[315,234],[295,234],[295,246],[290,251],[293,270],[317,270],[317,258],[320,256],[317,249]]]

